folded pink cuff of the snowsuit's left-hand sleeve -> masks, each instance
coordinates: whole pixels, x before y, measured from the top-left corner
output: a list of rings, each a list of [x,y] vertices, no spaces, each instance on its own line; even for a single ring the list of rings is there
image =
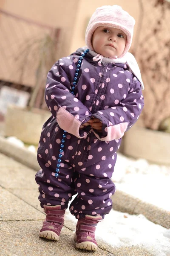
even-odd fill
[[[80,122],[71,113],[69,113],[60,106],[57,111],[56,118],[60,128],[62,128],[63,130],[67,131],[70,134],[73,134],[77,138],[82,139],[88,135],[88,133],[85,132],[84,136],[80,136],[79,128],[82,125],[82,122]]]

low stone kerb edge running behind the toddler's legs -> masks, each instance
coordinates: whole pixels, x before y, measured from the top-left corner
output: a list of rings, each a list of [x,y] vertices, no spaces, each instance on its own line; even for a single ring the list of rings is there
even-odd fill
[[[37,154],[10,143],[4,137],[0,137],[0,153],[14,158],[14,160],[35,171],[40,170],[37,162]],[[120,190],[116,190],[116,193],[112,196],[112,201],[113,209],[116,211],[127,212],[129,214],[142,214],[153,223],[170,228],[170,212],[164,209],[144,202]]]

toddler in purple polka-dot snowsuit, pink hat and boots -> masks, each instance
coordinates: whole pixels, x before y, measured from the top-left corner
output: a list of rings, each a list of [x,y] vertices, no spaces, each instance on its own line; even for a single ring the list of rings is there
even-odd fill
[[[35,179],[46,218],[40,237],[58,241],[68,201],[77,219],[76,247],[97,250],[95,229],[112,209],[111,181],[122,136],[144,105],[139,67],[128,53],[135,20],[102,6],[85,33],[87,47],[57,61],[47,76],[52,116],[42,128]]]

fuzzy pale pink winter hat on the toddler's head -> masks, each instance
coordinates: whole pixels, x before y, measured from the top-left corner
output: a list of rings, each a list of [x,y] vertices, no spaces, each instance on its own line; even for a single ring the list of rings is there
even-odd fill
[[[122,58],[126,52],[130,49],[133,38],[133,27],[135,25],[135,19],[125,12],[121,6],[102,6],[96,9],[94,14],[88,23],[85,32],[85,43],[89,49],[94,51],[91,44],[91,39],[94,31],[99,26],[108,26],[116,29],[121,29],[127,36],[126,46],[124,52],[119,58]]]

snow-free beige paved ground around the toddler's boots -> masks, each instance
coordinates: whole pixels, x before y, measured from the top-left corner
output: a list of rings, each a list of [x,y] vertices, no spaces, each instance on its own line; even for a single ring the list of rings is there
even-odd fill
[[[37,199],[36,172],[3,154],[0,163],[0,256],[153,256],[141,247],[113,248],[104,241],[98,241],[97,252],[78,250],[67,215],[58,242],[40,239],[45,215]]]

